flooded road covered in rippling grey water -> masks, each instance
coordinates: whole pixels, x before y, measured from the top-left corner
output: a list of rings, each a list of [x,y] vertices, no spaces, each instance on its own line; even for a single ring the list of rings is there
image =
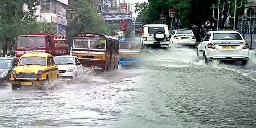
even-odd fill
[[[142,65],[52,89],[0,88],[0,127],[255,128],[256,62],[213,61],[172,45]]]

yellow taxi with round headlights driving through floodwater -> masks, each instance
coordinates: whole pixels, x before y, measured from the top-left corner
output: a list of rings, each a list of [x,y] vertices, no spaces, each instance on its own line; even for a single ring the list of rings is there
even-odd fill
[[[12,90],[22,86],[42,85],[59,78],[58,66],[51,54],[28,53],[20,57],[17,67],[11,71]]]

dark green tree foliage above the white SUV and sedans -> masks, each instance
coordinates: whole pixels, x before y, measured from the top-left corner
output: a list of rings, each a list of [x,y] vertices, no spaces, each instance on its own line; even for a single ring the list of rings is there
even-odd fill
[[[177,9],[175,17],[181,20],[182,25],[202,25],[205,21],[216,22],[212,18],[213,10],[211,6],[213,4],[217,5],[218,0],[149,0],[148,3],[136,3],[135,11],[139,12],[138,18],[141,18],[145,23],[152,23],[160,19],[159,13],[169,14],[169,8],[173,7]],[[221,0],[220,8],[223,8],[223,2],[226,0]],[[243,2],[246,2],[244,0]],[[230,4],[230,15],[234,16],[234,5],[235,0],[231,1]],[[241,0],[237,0],[237,7],[241,5]],[[243,4],[244,5],[244,4]],[[216,9],[217,10],[217,9]],[[241,15],[244,11],[244,6],[236,10],[236,18]],[[215,12],[217,14],[217,12]],[[228,17],[228,4],[226,2],[225,9],[220,16],[224,16],[220,24],[224,26],[224,23]],[[215,16],[216,17],[216,16]],[[233,21],[233,18],[229,20]]]

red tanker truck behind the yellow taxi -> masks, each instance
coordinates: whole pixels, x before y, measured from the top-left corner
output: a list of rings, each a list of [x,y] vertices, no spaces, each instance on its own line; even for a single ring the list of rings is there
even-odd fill
[[[19,35],[16,42],[15,56],[29,52],[46,52],[53,56],[68,55],[69,44],[65,36],[49,33]]]

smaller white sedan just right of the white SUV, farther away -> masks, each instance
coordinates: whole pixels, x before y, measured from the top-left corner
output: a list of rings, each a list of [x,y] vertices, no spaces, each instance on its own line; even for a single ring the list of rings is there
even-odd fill
[[[175,30],[171,36],[171,42],[179,45],[196,45],[196,37],[191,30]]]

